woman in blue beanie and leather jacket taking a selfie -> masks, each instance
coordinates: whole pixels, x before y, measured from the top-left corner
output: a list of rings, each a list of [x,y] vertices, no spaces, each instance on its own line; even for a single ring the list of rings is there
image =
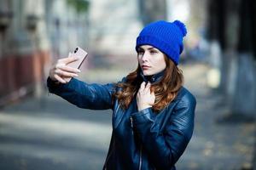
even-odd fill
[[[173,170],[189,144],[195,97],[183,88],[177,68],[187,31],[182,22],[153,22],[137,37],[137,70],[116,84],[72,78],[79,70],[59,59],[49,71],[49,92],[73,105],[113,110],[113,133],[103,169]]]

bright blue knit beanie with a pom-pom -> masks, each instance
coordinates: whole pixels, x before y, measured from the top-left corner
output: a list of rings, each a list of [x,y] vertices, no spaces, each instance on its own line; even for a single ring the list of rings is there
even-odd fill
[[[151,45],[166,54],[177,65],[179,54],[183,52],[183,37],[186,34],[187,29],[179,20],[173,22],[160,20],[150,23],[137,37],[136,51],[141,45]]]

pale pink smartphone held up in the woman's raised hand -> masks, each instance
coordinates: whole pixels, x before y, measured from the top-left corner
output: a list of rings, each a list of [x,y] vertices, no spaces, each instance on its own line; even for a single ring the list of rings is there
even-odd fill
[[[73,53],[69,53],[68,57],[78,57],[79,59],[76,61],[73,61],[72,63],[68,63],[68,66],[71,66],[73,68],[79,69],[82,63],[84,62],[84,59],[86,59],[88,53],[84,51],[82,48],[75,48]],[[64,78],[67,82],[71,80],[71,78]]]

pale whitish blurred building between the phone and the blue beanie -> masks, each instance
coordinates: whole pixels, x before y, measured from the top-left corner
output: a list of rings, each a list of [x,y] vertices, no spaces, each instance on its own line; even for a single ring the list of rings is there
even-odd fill
[[[128,70],[135,69],[139,32],[148,22],[166,20],[166,10],[166,0],[91,0],[90,54],[96,66],[122,65]]]

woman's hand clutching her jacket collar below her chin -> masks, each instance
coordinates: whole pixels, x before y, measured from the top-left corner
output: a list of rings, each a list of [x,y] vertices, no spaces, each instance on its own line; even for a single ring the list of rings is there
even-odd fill
[[[141,84],[141,88],[137,93],[137,109],[138,111],[142,111],[148,107],[152,107],[154,105],[155,95],[154,92],[150,92],[150,82],[146,85],[146,82]]]

